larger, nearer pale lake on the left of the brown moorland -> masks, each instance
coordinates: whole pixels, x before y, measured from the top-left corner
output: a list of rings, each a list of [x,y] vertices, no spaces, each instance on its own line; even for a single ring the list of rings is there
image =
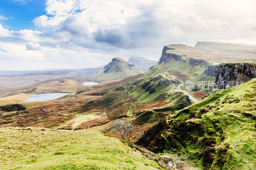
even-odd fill
[[[65,96],[71,93],[46,93],[46,94],[33,94],[28,99],[20,102],[32,102],[32,101],[45,101],[45,100],[52,100],[57,99],[59,97]]]

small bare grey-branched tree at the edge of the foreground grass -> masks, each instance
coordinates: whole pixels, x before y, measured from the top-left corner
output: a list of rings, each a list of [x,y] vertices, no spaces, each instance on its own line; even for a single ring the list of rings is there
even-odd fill
[[[120,135],[125,141],[127,138],[129,139],[129,143],[131,143],[130,137],[135,133],[135,127],[126,121],[116,120],[111,125],[112,132],[114,134]]]

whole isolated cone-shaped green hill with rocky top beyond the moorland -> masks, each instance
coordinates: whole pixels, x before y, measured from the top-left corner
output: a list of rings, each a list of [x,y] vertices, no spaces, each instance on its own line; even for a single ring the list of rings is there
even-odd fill
[[[91,79],[96,81],[106,81],[142,73],[144,73],[144,71],[136,68],[134,64],[128,63],[122,58],[115,57],[103,68],[103,70],[98,71],[92,76]]]

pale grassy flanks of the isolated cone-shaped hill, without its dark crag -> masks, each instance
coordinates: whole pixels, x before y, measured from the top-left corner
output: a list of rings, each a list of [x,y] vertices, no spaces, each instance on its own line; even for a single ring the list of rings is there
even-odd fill
[[[144,71],[138,69],[135,66],[129,66],[131,63],[128,63],[127,61],[117,58],[119,62],[115,62],[115,65],[118,65],[120,67],[120,70],[118,72],[116,70],[110,70],[107,73],[104,73],[104,70],[100,70],[97,72],[94,76],[92,76],[92,80],[114,80],[117,78],[124,78],[127,76],[142,74]]]

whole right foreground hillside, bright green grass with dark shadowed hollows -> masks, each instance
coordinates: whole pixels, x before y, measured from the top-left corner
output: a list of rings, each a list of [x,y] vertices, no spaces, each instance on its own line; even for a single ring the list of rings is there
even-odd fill
[[[188,155],[205,169],[255,169],[255,106],[256,79],[252,79],[243,88],[220,90],[170,113],[138,144],[156,153]]]

